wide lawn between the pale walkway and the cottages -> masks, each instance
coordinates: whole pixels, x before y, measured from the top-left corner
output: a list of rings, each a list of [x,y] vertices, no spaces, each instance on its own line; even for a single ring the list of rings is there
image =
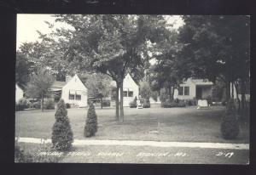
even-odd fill
[[[149,109],[124,108],[125,121],[114,120],[114,109],[96,109],[98,132],[95,137],[84,138],[86,108],[68,109],[75,139],[131,139],[154,141],[249,143],[249,128],[241,126],[236,140],[224,140],[220,133],[223,106],[206,110],[195,107]],[[31,110],[15,113],[15,135],[29,138],[51,138],[55,110]],[[155,131],[158,131],[156,133]]]

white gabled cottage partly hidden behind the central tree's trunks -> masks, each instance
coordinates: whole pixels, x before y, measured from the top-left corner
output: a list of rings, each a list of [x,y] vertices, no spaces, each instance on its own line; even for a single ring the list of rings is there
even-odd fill
[[[116,82],[111,82],[113,87],[116,87]],[[139,95],[139,87],[136,82],[132,79],[131,75],[128,73],[125,76],[123,82],[123,97],[124,97],[124,106],[129,106],[129,103],[134,100],[135,97],[138,99]],[[112,90],[111,94],[111,104],[115,104],[114,100],[116,98],[115,88]],[[120,99],[120,91],[119,91],[119,99]]]

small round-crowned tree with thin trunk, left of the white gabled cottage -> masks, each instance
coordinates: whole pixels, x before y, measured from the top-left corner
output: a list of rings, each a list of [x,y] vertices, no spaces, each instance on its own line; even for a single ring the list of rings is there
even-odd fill
[[[54,77],[45,69],[32,73],[26,86],[26,94],[31,98],[41,99],[41,110],[44,110],[44,98],[50,95],[50,86]]]

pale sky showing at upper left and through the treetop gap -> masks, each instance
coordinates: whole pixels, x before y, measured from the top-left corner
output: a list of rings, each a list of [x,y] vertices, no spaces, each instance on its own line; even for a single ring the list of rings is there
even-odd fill
[[[178,15],[165,15],[165,18],[167,23],[173,24],[175,29],[183,25],[183,20]],[[17,14],[16,48],[19,48],[22,42],[36,42],[39,37],[37,31],[43,34],[51,32],[53,29],[49,29],[44,21],[54,23],[57,28],[71,28],[67,24],[55,23],[55,17],[52,14]]]

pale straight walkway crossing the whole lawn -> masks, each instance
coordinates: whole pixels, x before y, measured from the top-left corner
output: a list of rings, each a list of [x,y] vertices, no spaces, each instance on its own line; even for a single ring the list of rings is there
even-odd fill
[[[17,139],[17,138],[15,138]],[[51,139],[44,138],[18,138],[18,142],[44,144],[51,143]],[[140,140],[92,140],[74,139],[74,146],[83,145],[118,145],[118,146],[153,146],[153,147],[183,147],[183,148],[208,148],[208,149],[230,149],[249,150],[249,144],[221,144],[221,143],[199,143],[199,142],[157,142]]]

